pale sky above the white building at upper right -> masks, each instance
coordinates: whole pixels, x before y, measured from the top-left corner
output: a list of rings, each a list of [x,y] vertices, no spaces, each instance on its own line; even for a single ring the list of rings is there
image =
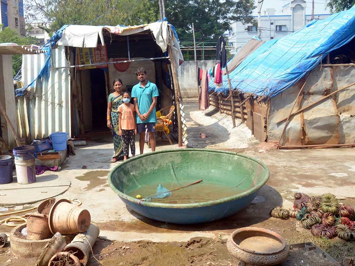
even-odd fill
[[[312,0],[306,1],[306,15],[312,14]],[[282,15],[282,7],[291,2],[290,0],[264,0],[261,7],[261,12],[267,8],[274,8],[275,15]],[[327,0],[314,0],[315,15],[329,14],[329,9],[326,9]],[[255,5],[258,6],[258,1],[255,0]],[[326,9],[326,10],[324,10]],[[253,16],[258,15],[258,10],[253,11]]]

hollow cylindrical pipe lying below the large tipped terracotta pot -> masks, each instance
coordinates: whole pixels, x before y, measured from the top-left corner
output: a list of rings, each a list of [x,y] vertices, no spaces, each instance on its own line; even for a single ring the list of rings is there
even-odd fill
[[[73,241],[65,246],[64,251],[75,254],[81,264],[85,266],[99,233],[99,227],[95,223],[91,223],[86,232],[77,234]]]

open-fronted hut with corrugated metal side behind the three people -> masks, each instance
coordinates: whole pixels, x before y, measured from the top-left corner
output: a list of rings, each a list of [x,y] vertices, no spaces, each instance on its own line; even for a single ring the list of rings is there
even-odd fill
[[[56,131],[73,136],[107,130],[114,79],[131,91],[138,83],[135,71],[144,67],[159,90],[156,109],[176,106],[173,127],[181,144],[176,68],[183,57],[175,27],[166,20],[133,27],[65,25],[42,50],[23,56],[23,88],[15,90],[19,135],[27,142]]]

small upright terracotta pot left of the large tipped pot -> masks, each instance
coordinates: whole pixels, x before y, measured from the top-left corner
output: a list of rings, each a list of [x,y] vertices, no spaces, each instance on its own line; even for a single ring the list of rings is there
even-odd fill
[[[27,218],[27,239],[47,239],[48,235],[50,234],[48,225],[48,215],[29,213],[25,216]]]

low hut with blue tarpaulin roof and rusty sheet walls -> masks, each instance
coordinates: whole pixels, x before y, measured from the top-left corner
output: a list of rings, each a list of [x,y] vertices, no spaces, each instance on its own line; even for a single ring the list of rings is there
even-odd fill
[[[219,88],[211,79],[210,103],[246,121],[261,142],[355,145],[354,35],[352,7],[283,38],[255,37],[228,63],[234,105],[226,76]]]

